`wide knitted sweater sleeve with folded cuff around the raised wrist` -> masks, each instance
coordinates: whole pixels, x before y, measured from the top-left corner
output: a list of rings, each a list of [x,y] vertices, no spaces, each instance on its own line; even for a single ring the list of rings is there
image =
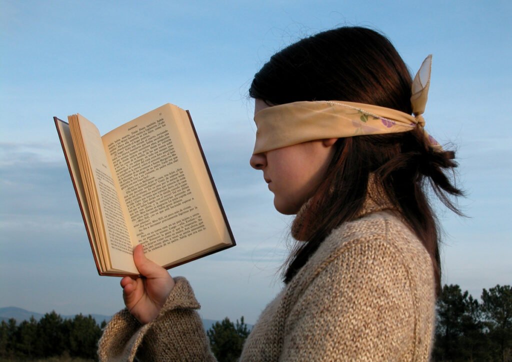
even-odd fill
[[[159,315],[142,325],[126,309],[114,315],[98,343],[101,361],[201,360],[214,361],[197,313],[194,291],[184,278],[175,278]]]

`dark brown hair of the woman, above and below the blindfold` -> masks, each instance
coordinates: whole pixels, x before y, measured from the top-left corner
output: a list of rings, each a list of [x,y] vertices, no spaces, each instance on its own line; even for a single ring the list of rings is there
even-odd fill
[[[249,95],[269,104],[340,100],[411,114],[411,83],[406,65],[385,36],[367,28],[343,27],[304,38],[274,54],[255,74]],[[457,166],[454,152],[434,150],[419,127],[397,134],[340,138],[335,146],[327,175],[301,220],[298,237],[306,243],[290,255],[285,283],[332,229],[356,216],[373,174],[429,252],[439,288],[439,228],[425,186],[430,184],[440,200],[460,215],[449,198],[462,195],[447,177]]]

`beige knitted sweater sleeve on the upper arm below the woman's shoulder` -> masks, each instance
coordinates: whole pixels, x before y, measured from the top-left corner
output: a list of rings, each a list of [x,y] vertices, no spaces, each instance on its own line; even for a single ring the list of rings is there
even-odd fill
[[[287,320],[281,360],[428,360],[413,355],[415,286],[396,249],[358,240],[316,272]]]

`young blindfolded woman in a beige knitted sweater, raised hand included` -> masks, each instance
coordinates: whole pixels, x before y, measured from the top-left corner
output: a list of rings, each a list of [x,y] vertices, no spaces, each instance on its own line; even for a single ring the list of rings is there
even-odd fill
[[[250,164],[274,206],[296,214],[285,286],[241,360],[428,360],[440,284],[426,187],[452,210],[454,153],[424,130],[430,61],[414,79],[394,47],[338,28],[273,55],[254,76]],[[187,281],[134,251],[126,309],[99,343],[104,360],[214,360]]]

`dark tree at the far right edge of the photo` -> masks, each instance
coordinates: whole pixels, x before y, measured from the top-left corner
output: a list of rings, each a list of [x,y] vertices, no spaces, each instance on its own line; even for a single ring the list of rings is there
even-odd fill
[[[482,311],[489,337],[498,346],[499,360],[512,360],[512,289],[497,285],[482,291]]]

